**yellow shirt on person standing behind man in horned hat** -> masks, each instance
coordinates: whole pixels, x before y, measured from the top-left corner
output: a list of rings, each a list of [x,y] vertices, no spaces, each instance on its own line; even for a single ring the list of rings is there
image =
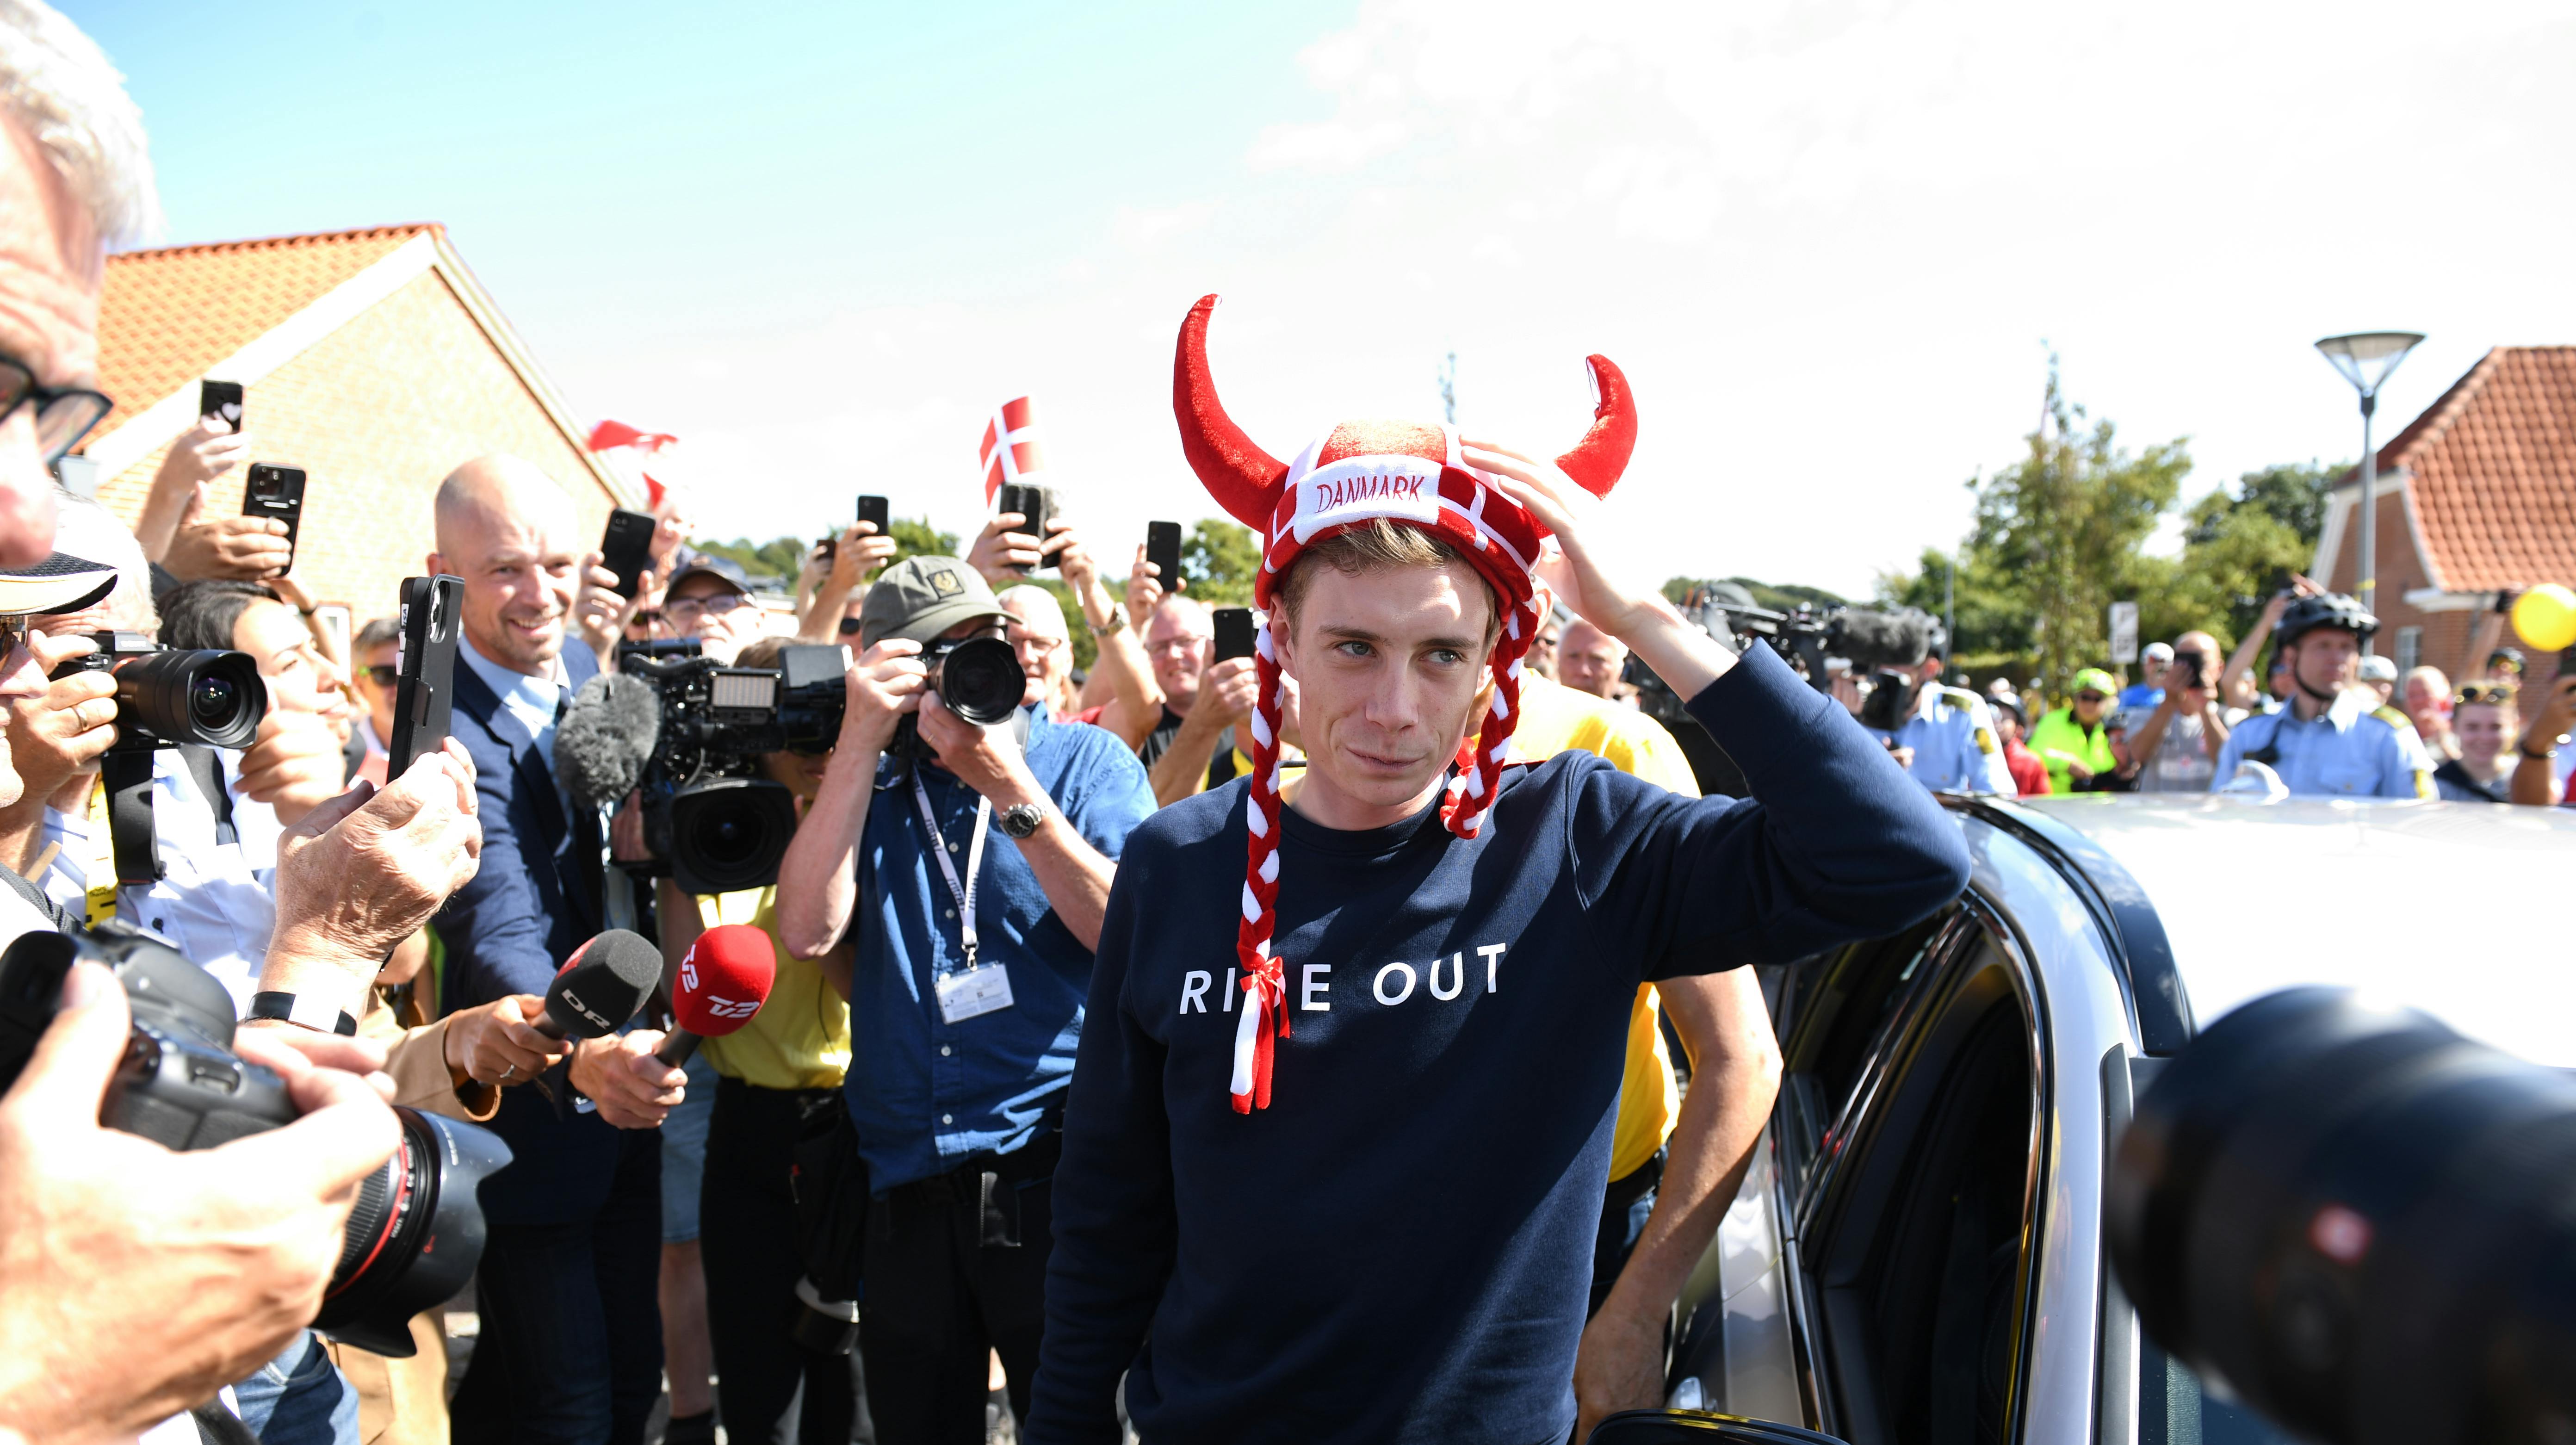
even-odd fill
[[[1620,773],[1685,798],[1700,796],[1690,757],[1664,732],[1664,724],[1535,672],[1528,675],[1520,683],[1520,726],[1512,729],[1512,757],[1538,762],[1569,747],[1592,752]],[[1620,1180],[1646,1167],[1680,1118],[1682,1090],[1672,1082],[1672,1051],[1664,1048],[1664,1007],[1654,984],[1643,984],[1636,992],[1636,1007],[1628,1010],[1628,1069],[1620,1077],[1618,1123],[1610,1131],[1610,1177]]]

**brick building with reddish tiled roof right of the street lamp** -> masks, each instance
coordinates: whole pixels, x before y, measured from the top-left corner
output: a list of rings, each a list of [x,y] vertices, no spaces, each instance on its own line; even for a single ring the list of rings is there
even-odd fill
[[[2360,469],[2326,510],[2311,577],[2349,592],[2360,564]],[[2486,667],[2496,592],[2576,585],[2576,345],[2499,345],[2380,448],[2378,649],[2455,680]],[[2481,628],[2481,623],[2486,623]],[[2524,685],[2555,654],[2522,647]]]

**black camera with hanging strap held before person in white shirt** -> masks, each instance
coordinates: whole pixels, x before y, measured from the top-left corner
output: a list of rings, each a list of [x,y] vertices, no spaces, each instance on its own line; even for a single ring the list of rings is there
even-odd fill
[[[247,652],[162,647],[139,631],[93,631],[98,652],[54,677],[116,677],[116,744],[98,762],[108,788],[108,840],[116,881],[152,886],[162,876],[152,837],[152,755],[162,747],[250,747],[268,716],[268,683]]]

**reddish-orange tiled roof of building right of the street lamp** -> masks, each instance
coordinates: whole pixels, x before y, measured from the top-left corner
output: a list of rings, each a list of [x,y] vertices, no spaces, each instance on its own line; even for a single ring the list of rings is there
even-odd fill
[[[2380,448],[2445,590],[2576,582],[2576,345],[2499,345]]]

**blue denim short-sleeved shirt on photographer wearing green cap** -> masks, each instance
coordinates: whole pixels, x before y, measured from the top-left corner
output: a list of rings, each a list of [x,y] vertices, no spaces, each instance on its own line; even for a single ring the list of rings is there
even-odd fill
[[[1154,811],[1144,765],[1110,732],[1048,721],[1043,708],[1023,713],[1028,770],[1074,832],[1115,860],[1128,829]],[[963,883],[976,791],[933,765],[920,778]],[[1054,914],[1020,845],[994,824],[974,889],[976,953],[1010,974],[1012,1005],[945,1023],[933,981],[963,968],[966,950],[930,847],[938,842],[922,829],[912,768],[881,760],[858,850],[842,1084],[878,1193],[1028,1144],[1046,1110],[1064,1102],[1092,987],[1092,950]]]

